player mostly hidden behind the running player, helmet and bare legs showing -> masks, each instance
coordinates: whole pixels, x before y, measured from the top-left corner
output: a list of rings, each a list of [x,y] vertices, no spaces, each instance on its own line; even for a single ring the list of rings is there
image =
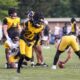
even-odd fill
[[[28,21],[28,20],[32,20],[33,19],[33,15],[34,15],[34,11],[30,11],[28,14],[27,14],[27,19],[25,21]],[[24,21],[24,23],[25,23]],[[23,25],[25,26],[25,25]],[[42,48],[41,48],[41,35],[38,34],[36,36],[36,41],[35,41],[35,44],[33,46],[33,56],[32,56],[32,59],[31,59],[31,66],[34,67],[34,66],[48,66],[45,62],[44,62],[44,58],[43,58],[43,54],[42,54]],[[36,58],[37,58],[37,63],[35,64],[34,63],[34,51],[36,53]]]

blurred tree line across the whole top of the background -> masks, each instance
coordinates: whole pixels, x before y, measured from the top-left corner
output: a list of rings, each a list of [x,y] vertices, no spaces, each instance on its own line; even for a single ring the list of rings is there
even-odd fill
[[[80,16],[80,0],[0,0],[0,18],[9,7],[16,7],[21,18],[30,10],[42,11],[45,17]]]

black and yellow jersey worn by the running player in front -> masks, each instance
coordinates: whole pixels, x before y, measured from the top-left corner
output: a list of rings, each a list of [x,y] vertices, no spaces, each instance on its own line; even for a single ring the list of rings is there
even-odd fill
[[[37,34],[39,34],[44,26],[41,25],[39,28],[35,28],[30,21],[25,23],[25,29],[21,33],[21,39],[27,40],[27,41],[33,41],[35,40],[35,37]]]

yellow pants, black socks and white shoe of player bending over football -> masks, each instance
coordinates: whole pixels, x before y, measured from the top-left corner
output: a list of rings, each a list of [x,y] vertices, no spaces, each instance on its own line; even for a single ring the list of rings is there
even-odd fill
[[[58,62],[59,56],[61,55],[62,52],[64,52],[69,47],[71,47],[74,50],[75,54],[80,58],[79,44],[77,42],[76,36],[75,35],[65,35],[61,38],[60,44],[56,51],[52,69],[56,69],[56,64]]]

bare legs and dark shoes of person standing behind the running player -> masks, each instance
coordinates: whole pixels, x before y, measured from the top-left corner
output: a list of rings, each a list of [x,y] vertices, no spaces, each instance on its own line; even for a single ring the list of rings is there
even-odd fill
[[[44,58],[43,58],[43,54],[42,54],[42,45],[41,45],[41,39],[39,36],[40,34],[38,34],[36,36],[36,42],[33,46],[33,52],[35,51],[36,53],[36,57],[37,57],[37,63],[34,65],[34,56],[31,59],[31,65],[34,66],[43,66],[43,67],[48,67],[48,65],[44,62]]]

